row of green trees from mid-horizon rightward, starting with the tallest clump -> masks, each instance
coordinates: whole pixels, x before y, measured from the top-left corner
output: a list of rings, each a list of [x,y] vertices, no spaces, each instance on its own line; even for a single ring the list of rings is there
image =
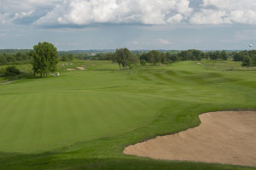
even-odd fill
[[[189,49],[180,51],[176,54],[168,52],[160,52],[157,50],[152,50],[147,53],[131,53],[127,48],[117,49],[115,54],[112,54],[113,62],[117,62],[119,67],[122,69],[131,69],[132,65],[137,65],[140,62],[141,65],[147,65],[147,63],[152,65],[168,64],[175,61],[184,61],[184,60],[197,60],[201,59],[211,59],[211,60],[227,60],[230,57],[230,54],[226,51],[213,51],[213,52],[202,52],[196,49]],[[111,58],[111,57],[110,57]],[[109,59],[110,60],[110,59]]]

